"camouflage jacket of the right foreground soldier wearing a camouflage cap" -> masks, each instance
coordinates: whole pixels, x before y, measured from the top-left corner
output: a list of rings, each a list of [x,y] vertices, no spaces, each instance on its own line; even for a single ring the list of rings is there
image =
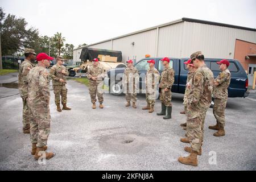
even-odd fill
[[[206,66],[199,67],[192,79],[192,88],[188,96],[189,105],[198,109],[208,109],[212,101],[213,73]]]

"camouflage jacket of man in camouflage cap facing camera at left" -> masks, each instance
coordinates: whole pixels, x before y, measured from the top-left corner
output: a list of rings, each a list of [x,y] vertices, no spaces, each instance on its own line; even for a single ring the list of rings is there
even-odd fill
[[[65,70],[65,74],[63,74],[61,71]],[[69,75],[68,70],[63,65],[55,64],[50,69],[49,77],[52,78],[52,85],[65,85],[66,82],[66,76]],[[63,79],[65,82],[60,82],[60,79]]]

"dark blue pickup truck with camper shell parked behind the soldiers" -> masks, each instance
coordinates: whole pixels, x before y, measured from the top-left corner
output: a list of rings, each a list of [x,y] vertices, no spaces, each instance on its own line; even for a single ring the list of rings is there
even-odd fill
[[[151,59],[155,60],[155,68],[158,69],[160,74],[164,68],[162,61],[160,61],[162,57],[144,58],[134,65],[134,67],[138,69],[140,75],[139,87],[141,89],[141,93],[144,93],[142,91],[143,88],[145,88],[144,77],[149,67],[147,61]],[[170,67],[175,71],[175,81],[174,85],[172,86],[172,92],[183,94],[185,92],[188,69],[185,67],[184,62],[187,60],[188,58],[177,59],[170,57]],[[220,73],[220,69],[216,63],[220,60],[221,59],[205,59],[205,64],[212,70],[214,77],[217,77],[218,73]],[[249,92],[247,92],[248,78],[245,70],[238,60],[230,59],[229,62],[229,71],[231,73],[231,82],[228,88],[229,97],[247,97],[249,95]],[[124,71],[125,68],[110,69],[107,72],[108,77],[106,77],[104,80],[105,85],[109,86],[109,92],[115,96],[121,96],[122,94],[122,76]]]

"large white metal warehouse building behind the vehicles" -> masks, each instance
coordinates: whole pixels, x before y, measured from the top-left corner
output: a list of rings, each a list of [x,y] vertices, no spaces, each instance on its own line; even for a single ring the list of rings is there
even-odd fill
[[[138,61],[147,54],[151,57],[189,57],[195,51],[202,51],[208,58],[234,59],[236,40],[256,45],[256,30],[182,18],[86,47],[122,51],[123,61]],[[74,61],[81,61],[82,48],[73,50]]]

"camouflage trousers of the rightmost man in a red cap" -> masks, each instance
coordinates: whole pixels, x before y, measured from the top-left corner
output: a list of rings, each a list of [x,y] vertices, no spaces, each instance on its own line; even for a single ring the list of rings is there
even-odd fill
[[[222,127],[225,126],[225,109],[226,100],[214,98],[213,115],[216,118],[217,123]]]

